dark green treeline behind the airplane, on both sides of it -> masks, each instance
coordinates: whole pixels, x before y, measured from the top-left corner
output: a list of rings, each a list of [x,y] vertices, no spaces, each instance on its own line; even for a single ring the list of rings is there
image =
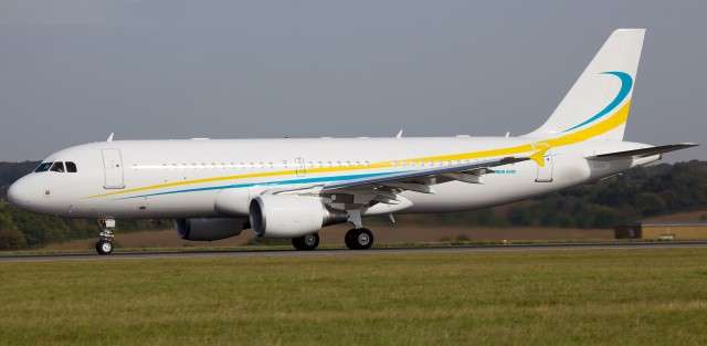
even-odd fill
[[[0,249],[42,247],[51,242],[96,237],[95,220],[38,216],[4,201],[8,186],[38,162],[0,162]],[[632,169],[593,185],[510,206],[432,216],[402,216],[405,223],[464,226],[537,226],[612,228],[646,217],[707,208],[707,161]],[[380,220],[371,220],[381,222]],[[170,220],[118,222],[118,232],[172,227]]]

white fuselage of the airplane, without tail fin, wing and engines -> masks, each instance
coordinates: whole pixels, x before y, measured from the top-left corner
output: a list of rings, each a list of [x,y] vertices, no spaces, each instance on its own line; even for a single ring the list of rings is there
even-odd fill
[[[498,148],[531,145],[525,137],[122,140],[71,147],[45,162],[71,161],[76,172],[33,172],[11,200],[38,212],[74,218],[202,218],[247,214],[252,197],[273,188],[342,181],[503,157]],[[483,184],[450,181],[434,193],[404,191],[409,201],[383,212],[447,212],[507,203],[594,181],[659,156],[594,162],[584,157],[645,147],[583,141],[532,160],[494,168]],[[503,150],[502,150],[503,151]],[[482,153],[482,154],[478,154]],[[397,209],[395,209],[397,208]]]

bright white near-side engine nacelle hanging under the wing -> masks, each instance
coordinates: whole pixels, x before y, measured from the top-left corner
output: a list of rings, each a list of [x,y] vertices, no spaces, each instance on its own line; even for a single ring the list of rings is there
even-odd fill
[[[265,238],[297,238],[347,219],[346,212],[326,208],[318,197],[264,195],[250,206],[251,227]]]

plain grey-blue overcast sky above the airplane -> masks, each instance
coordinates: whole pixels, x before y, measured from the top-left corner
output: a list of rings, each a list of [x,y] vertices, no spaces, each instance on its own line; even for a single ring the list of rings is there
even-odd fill
[[[0,160],[112,132],[520,135],[615,28],[648,29],[625,139],[706,143],[706,15],[698,0],[0,0]]]

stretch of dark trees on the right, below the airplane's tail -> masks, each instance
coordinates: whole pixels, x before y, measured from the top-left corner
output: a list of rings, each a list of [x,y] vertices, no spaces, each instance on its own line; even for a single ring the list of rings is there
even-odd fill
[[[621,176],[535,199],[475,211],[402,216],[401,223],[613,228],[707,208],[707,161],[639,167]]]

